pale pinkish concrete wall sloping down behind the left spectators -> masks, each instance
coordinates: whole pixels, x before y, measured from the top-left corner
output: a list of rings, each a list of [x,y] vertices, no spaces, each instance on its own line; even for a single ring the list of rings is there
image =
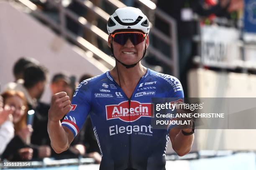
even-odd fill
[[[74,50],[72,45],[32,16],[0,2],[0,83],[1,90],[14,80],[12,67],[19,57],[33,57],[49,69],[49,80],[56,72],[67,71],[77,79],[84,74],[98,75],[107,70],[92,57]],[[2,91],[1,91],[2,92]],[[49,102],[49,84],[42,100]]]

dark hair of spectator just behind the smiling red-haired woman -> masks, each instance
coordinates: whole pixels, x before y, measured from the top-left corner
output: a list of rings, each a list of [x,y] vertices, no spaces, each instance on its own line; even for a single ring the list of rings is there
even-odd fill
[[[48,70],[35,64],[29,64],[24,70],[24,86],[31,88],[40,81],[46,80],[46,74]]]

